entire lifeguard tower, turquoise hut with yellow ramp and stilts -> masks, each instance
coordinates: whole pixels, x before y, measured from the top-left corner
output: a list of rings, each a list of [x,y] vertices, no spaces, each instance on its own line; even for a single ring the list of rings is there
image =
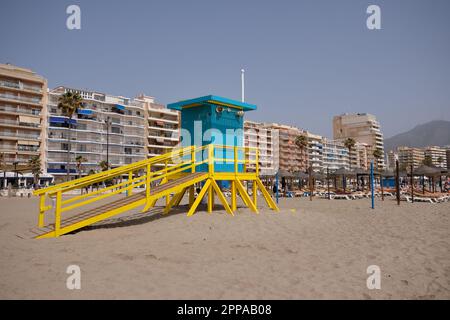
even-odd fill
[[[244,114],[255,110],[255,105],[209,95],[172,103],[168,108],[181,112],[181,148],[35,190],[33,194],[40,197],[39,219],[38,228],[30,230],[30,236],[58,237],[138,207],[147,212],[161,198],[166,200],[165,214],[178,206],[186,193],[189,193],[187,216],[195,213],[206,195],[209,213],[214,208],[215,195],[230,215],[237,210],[238,195],[250,210],[258,213],[258,190],[268,206],[279,211],[259,179],[259,150],[243,145]],[[252,196],[247,193],[245,182],[252,184]],[[201,185],[196,197],[195,185]],[[228,187],[231,204],[224,193]],[[73,195],[76,189],[86,192],[63,197]],[[114,195],[119,198],[95,208],[86,207]],[[47,204],[49,198],[52,204]],[[70,216],[63,217],[68,211]],[[54,212],[53,221],[48,212]]]

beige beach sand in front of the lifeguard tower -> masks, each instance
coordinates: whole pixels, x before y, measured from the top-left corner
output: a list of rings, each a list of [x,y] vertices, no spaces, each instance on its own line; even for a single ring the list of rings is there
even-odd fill
[[[17,235],[36,225],[38,199],[0,198],[0,298],[449,299],[450,202],[375,205],[281,199],[280,213],[191,218],[181,207],[33,240]],[[80,290],[66,287],[71,264]]]

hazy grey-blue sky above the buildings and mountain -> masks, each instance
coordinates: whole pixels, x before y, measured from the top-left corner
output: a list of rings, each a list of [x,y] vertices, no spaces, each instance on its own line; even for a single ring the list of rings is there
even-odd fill
[[[0,0],[0,63],[163,104],[239,100],[244,68],[246,119],[332,137],[334,115],[367,112],[390,137],[450,120],[449,14],[448,0]]]

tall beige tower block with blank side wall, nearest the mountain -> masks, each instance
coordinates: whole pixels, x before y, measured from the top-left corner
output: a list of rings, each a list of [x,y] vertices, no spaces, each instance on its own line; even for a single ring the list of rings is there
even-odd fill
[[[374,161],[379,170],[385,168],[383,134],[374,115],[368,113],[342,114],[333,117],[334,139],[353,138],[356,142],[367,145],[367,164]],[[382,157],[375,159],[375,150],[382,152]]]

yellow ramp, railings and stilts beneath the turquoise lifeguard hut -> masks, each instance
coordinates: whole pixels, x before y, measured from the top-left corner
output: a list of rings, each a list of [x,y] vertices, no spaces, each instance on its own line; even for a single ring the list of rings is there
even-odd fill
[[[218,150],[224,151],[230,148],[234,149],[234,172],[215,172],[214,165],[217,161],[227,162],[229,159],[217,158],[214,155]],[[196,161],[198,154],[204,156],[203,159]],[[239,160],[238,154],[244,155],[241,160]],[[250,155],[253,156],[253,160]],[[243,172],[238,170],[238,163],[244,164]],[[162,168],[161,164],[163,164]],[[248,169],[252,164],[253,170]],[[197,172],[196,169],[200,165],[206,165],[208,170]],[[172,207],[180,203],[186,192],[189,192],[188,216],[195,213],[201,199],[206,194],[208,194],[208,212],[212,211],[214,194],[216,194],[225,210],[233,215],[237,209],[236,196],[239,193],[243,202],[257,213],[258,189],[261,190],[269,207],[278,211],[278,207],[263,186],[258,174],[258,150],[256,148],[211,144],[177,149],[130,165],[34,191],[34,195],[40,196],[39,220],[38,228],[31,229],[30,235],[33,238],[58,237],[140,206],[143,207],[142,212],[146,212],[155,205],[158,199],[163,197],[166,198],[166,207],[163,213],[168,213]],[[123,181],[124,177],[125,181]],[[218,180],[231,181],[231,206],[220,190],[217,184]],[[253,199],[242,184],[242,181],[245,180],[253,181]],[[194,199],[194,185],[202,181],[204,181],[203,187],[197,198]],[[109,185],[106,186],[105,182],[108,182]],[[96,187],[95,190],[90,188],[93,186]],[[143,188],[143,191],[133,194],[133,190],[136,188]],[[85,193],[78,192],[73,195],[75,190],[85,190]],[[62,215],[66,215],[68,211],[73,212],[75,209],[120,193],[126,193],[126,196],[62,218]],[[51,199],[54,204],[47,205],[48,199]],[[45,225],[45,215],[48,211],[54,212],[54,219],[52,223]]]

